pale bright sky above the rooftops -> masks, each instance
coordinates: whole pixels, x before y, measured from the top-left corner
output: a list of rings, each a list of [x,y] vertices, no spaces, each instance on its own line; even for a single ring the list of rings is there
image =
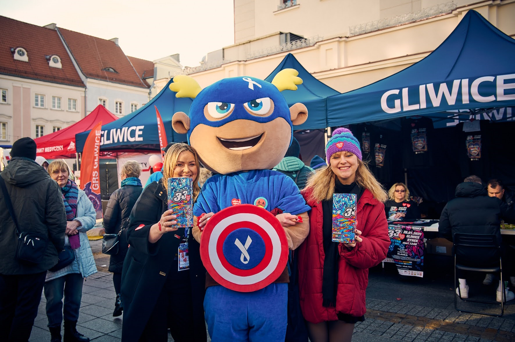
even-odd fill
[[[153,61],[180,53],[183,66],[234,43],[233,0],[0,0],[0,15],[102,39]]]

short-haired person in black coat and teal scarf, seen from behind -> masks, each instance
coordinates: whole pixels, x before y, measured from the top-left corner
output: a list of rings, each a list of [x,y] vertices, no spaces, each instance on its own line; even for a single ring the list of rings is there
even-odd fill
[[[124,227],[118,242],[118,253],[109,258],[109,272],[113,273],[114,291],[116,292],[113,317],[121,315],[123,311],[120,287],[122,286],[122,268],[129,248],[125,229],[128,227],[132,207],[143,191],[140,174],[141,165],[138,161],[129,160],[122,166],[122,187],[111,194],[104,213],[104,229],[107,234],[117,234]]]

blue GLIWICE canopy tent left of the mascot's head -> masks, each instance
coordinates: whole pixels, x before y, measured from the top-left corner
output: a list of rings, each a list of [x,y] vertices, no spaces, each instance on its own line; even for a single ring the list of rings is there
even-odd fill
[[[168,86],[170,80],[156,97],[139,110],[118,120],[102,125],[100,152],[104,155],[123,152],[159,151],[156,107],[161,114],[168,142],[186,141],[185,134],[177,134],[171,128],[171,117],[176,112],[188,113],[192,99],[176,98]],[[89,131],[75,136],[77,152],[82,152]]]

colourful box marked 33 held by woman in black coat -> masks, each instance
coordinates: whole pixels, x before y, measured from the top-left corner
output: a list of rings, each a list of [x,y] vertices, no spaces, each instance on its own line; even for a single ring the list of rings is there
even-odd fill
[[[193,227],[193,178],[168,178],[168,209],[177,215],[174,227]]]

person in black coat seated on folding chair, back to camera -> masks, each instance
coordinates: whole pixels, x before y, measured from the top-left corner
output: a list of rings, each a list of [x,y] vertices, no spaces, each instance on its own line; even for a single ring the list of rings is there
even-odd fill
[[[487,196],[481,179],[474,175],[465,178],[464,183],[456,187],[455,195],[456,198],[449,201],[441,213],[438,223],[439,236],[452,241],[456,233],[492,234],[496,235],[501,242],[501,219],[509,215],[509,212],[501,200]],[[457,254],[456,258],[460,263],[468,263],[472,266],[488,265],[499,260],[499,256],[485,253],[478,255],[477,250],[474,249]],[[503,265],[503,275],[504,272]],[[456,289],[456,293],[459,292],[461,298],[468,298],[469,285],[465,276],[459,273],[458,279],[460,289]],[[501,296],[501,282],[499,282],[497,301],[501,301]],[[515,298],[513,292],[506,290],[506,300],[513,298]]]

